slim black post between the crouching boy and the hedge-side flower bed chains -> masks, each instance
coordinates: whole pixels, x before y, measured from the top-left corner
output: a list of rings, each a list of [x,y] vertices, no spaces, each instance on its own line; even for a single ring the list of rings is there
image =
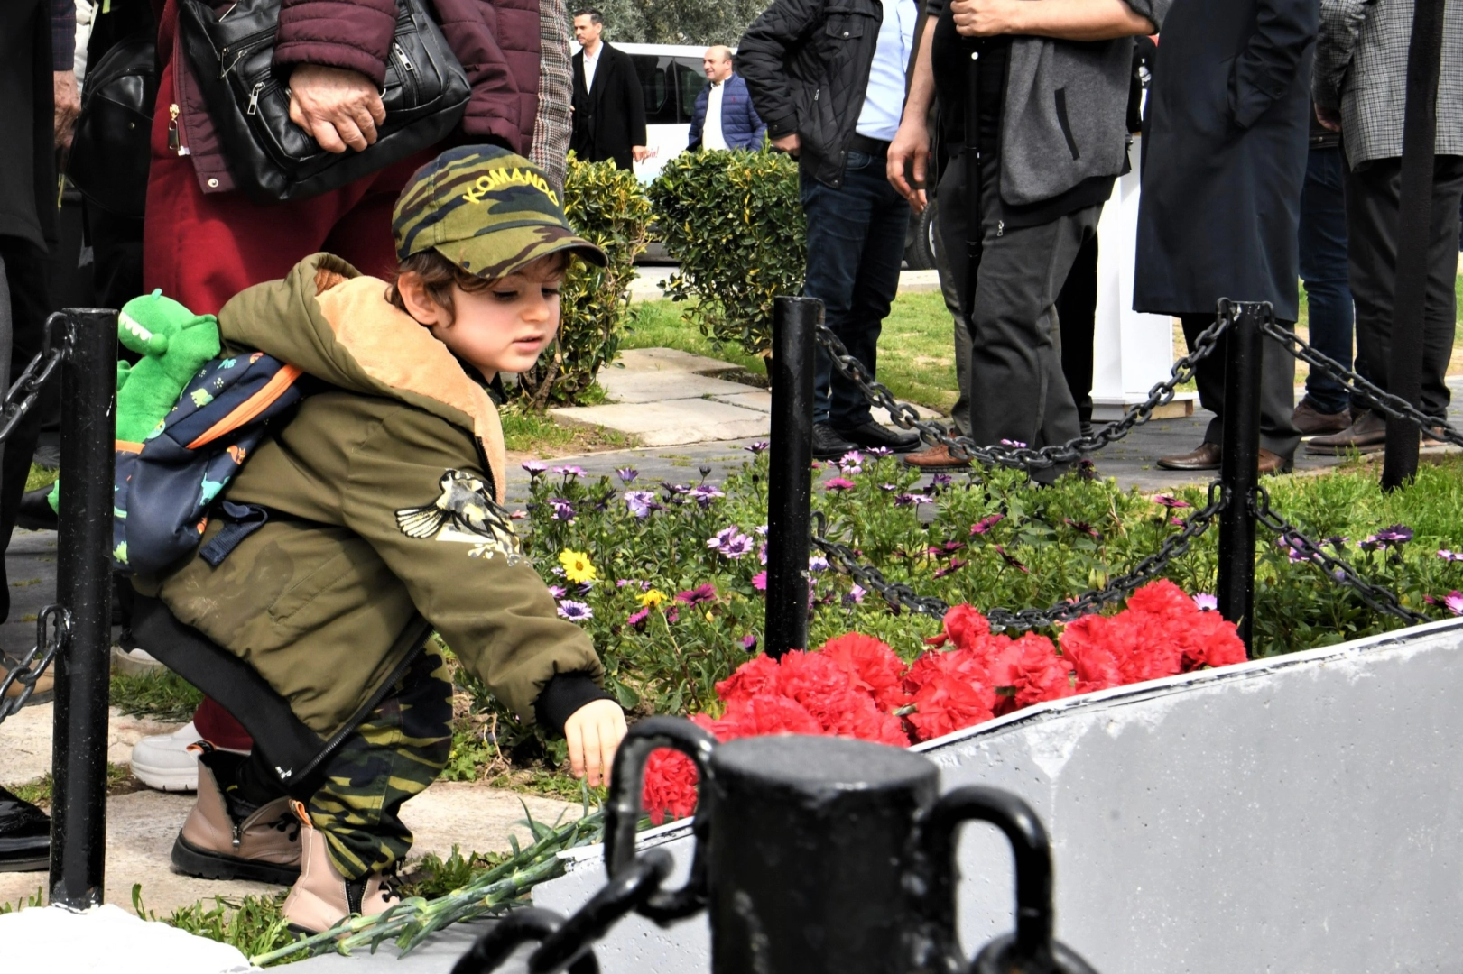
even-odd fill
[[[808,648],[812,521],[813,329],[818,298],[780,297],[772,312],[772,446],[767,477],[767,616],[772,658]]]

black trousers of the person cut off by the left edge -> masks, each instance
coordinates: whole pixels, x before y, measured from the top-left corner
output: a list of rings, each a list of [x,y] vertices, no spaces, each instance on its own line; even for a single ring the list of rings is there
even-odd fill
[[[3,284],[10,297],[10,333],[0,335],[0,341],[9,338],[10,345],[10,371],[4,376],[9,388],[41,351],[45,317],[51,312],[47,290],[50,268],[40,247],[18,237],[0,237],[0,262],[4,263]],[[60,382],[60,376],[53,374],[51,382]],[[40,434],[41,411],[31,409],[4,443],[4,458],[0,461],[0,551],[10,547],[16,509],[20,494],[25,493],[25,480],[31,474],[31,456],[35,453],[35,440]],[[0,622],[9,614],[10,584],[4,559],[0,557]]]

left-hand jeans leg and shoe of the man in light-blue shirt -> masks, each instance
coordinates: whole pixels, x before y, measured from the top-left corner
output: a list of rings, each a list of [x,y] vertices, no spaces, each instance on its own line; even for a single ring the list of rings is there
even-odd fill
[[[850,159],[868,159],[850,152]],[[862,193],[832,189],[802,175],[802,203],[808,218],[808,273],[803,295],[824,303],[824,325],[854,352],[857,336],[851,333],[853,290],[869,233],[872,200]],[[856,352],[854,352],[856,354]],[[872,371],[870,363],[863,363]],[[813,423],[828,423],[831,412],[832,360],[816,351],[813,374]]]

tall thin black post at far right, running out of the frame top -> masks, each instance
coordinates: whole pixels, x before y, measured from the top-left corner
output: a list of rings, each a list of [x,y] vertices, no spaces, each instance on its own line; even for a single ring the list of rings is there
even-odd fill
[[[1423,310],[1432,244],[1432,167],[1437,149],[1438,70],[1443,63],[1443,1],[1418,0],[1407,44],[1407,99],[1402,118],[1402,199],[1397,218],[1397,276],[1391,303],[1387,392],[1422,405]],[[1418,427],[1387,420],[1381,486],[1394,490],[1418,475]]]

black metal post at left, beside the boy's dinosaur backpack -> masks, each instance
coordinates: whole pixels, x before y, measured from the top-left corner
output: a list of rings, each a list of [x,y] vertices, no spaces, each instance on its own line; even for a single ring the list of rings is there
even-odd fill
[[[61,364],[61,502],[56,595],[69,635],[56,657],[51,902],[102,901],[111,651],[111,490],[117,313],[67,310]]]

